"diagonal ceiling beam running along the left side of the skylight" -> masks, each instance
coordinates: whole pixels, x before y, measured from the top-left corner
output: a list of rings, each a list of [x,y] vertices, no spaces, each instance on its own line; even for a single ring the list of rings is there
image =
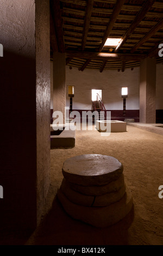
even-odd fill
[[[114,26],[114,24],[115,24],[115,22],[117,20],[117,17],[120,14],[121,8],[122,8],[125,0],[119,0],[117,2],[118,3],[116,4],[116,6],[115,6],[115,8],[114,8],[114,10],[112,12],[112,15],[110,17],[110,21],[109,21],[108,27],[105,30],[102,43],[101,43],[101,45],[98,48],[99,52],[102,51],[102,49],[104,47],[104,44],[105,44],[106,40],[108,39],[108,36],[110,35],[110,32],[111,32],[111,30],[112,30],[112,28],[113,28],[113,26]]]

